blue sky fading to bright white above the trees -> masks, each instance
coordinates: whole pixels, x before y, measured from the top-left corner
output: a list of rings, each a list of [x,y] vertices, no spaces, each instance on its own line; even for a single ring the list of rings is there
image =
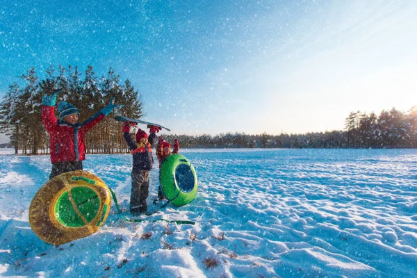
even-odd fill
[[[144,120],[212,135],[417,105],[416,1],[1,2],[0,96],[30,67],[113,67]]]

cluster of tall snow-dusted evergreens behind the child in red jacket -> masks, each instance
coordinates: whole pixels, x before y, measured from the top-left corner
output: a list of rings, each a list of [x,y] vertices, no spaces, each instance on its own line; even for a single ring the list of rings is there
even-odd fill
[[[49,135],[41,120],[43,92],[39,86],[40,79],[34,68],[22,74],[21,78],[24,86],[20,87],[17,83],[10,85],[0,103],[0,132],[10,136],[16,153],[17,149],[22,149],[24,154],[47,153]],[[111,68],[106,76],[98,78],[91,66],[83,73],[78,67],[59,66],[56,70],[51,66],[46,71],[45,79],[56,81],[58,88],[63,89],[58,94],[57,103],[67,101],[79,108],[79,122],[104,108],[112,97],[115,97],[115,104],[124,105],[116,109],[115,114],[142,116],[138,90],[129,80],[121,83],[120,76]],[[120,122],[106,117],[86,134],[85,147],[88,153],[126,152]]]

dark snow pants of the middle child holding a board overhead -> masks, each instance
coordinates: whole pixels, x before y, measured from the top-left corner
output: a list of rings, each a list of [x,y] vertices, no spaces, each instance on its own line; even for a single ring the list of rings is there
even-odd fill
[[[149,171],[135,171],[131,174],[132,191],[130,211],[133,215],[147,211],[146,199],[149,195]]]

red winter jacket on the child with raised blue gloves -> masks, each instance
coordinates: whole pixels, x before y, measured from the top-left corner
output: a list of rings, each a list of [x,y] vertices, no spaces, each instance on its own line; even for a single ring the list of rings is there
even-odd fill
[[[99,112],[82,124],[58,121],[54,106],[42,106],[42,124],[49,133],[51,162],[85,160],[85,133],[106,116]]]

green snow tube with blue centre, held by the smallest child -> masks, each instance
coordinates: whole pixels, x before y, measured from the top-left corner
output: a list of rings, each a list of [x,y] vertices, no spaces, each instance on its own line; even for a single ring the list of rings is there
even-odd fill
[[[190,203],[197,194],[197,174],[181,154],[170,154],[163,160],[159,182],[165,197],[176,206]]]

